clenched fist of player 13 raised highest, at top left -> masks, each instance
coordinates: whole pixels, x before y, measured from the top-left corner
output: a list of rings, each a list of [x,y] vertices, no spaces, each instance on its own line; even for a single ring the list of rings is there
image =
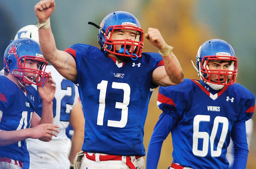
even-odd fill
[[[48,19],[53,13],[54,9],[55,9],[54,0],[39,1],[34,7],[36,16],[40,21],[45,21],[46,19]]]

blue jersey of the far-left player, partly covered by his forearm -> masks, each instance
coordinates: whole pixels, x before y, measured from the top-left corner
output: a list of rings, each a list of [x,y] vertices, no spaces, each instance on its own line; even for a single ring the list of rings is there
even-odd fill
[[[30,127],[32,113],[39,104],[39,94],[29,86],[23,92],[14,82],[0,75],[0,130],[12,131]],[[28,157],[25,140],[0,146],[0,157],[25,161]]]

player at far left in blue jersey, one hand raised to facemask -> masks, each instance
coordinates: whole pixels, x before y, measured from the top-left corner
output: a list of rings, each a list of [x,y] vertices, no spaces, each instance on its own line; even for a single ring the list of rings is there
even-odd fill
[[[46,65],[39,44],[28,38],[12,41],[4,52],[4,76],[0,76],[1,169],[23,167],[28,154],[26,138],[49,142],[57,136],[54,131],[59,132],[58,125],[53,124],[56,85],[51,73],[45,72]],[[31,84],[38,86],[38,92]],[[41,118],[35,112],[39,95]]]

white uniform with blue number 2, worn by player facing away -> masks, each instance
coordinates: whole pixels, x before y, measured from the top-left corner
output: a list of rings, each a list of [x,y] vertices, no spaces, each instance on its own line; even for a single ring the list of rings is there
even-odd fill
[[[52,72],[56,83],[56,93],[53,99],[54,124],[60,126],[60,133],[50,142],[39,139],[26,139],[30,155],[30,169],[69,169],[68,160],[71,141],[65,129],[69,125],[70,112],[78,99],[78,90],[74,83],[64,78],[52,65],[46,66],[46,72]],[[42,110],[36,110],[41,116]]]

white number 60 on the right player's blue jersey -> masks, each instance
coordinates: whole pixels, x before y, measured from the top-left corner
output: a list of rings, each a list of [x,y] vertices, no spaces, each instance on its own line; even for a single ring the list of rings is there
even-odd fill
[[[199,131],[199,124],[200,122],[209,122],[210,116],[209,115],[196,115],[194,117],[194,123],[193,123],[193,146],[192,151],[193,154],[200,157],[205,157],[208,154],[208,148],[209,148],[209,134],[207,132]],[[217,134],[219,123],[222,123],[222,131],[220,135],[220,139],[217,145],[217,150],[213,149],[214,146],[214,140]],[[225,138],[228,132],[228,119],[226,117],[217,116],[214,119],[213,123],[213,129],[212,134],[210,136],[210,146],[211,146],[211,156],[212,157],[219,157],[221,155],[221,149],[223,147],[223,144],[225,142]],[[198,139],[203,139],[203,146],[202,150],[198,150]]]

